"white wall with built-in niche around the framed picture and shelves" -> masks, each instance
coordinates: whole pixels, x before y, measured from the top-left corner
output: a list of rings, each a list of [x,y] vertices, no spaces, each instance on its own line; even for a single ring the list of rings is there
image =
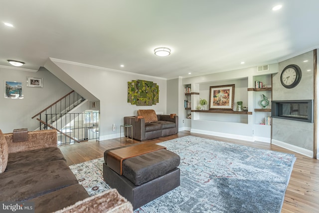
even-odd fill
[[[236,102],[243,101],[244,106],[248,106],[253,115],[238,115],[238,114],[218,114],[192,112],[191,132],[215,135],[221,137],[237,138],[247,141],[265,141],[270,142],[270,128],[265,127],[268,132],[267,137],[263,131],[260,131],[260,125],[255,125],[255,112],[253,109],[254,95],[253,91],[247,91],[254,85],[253,76],[271,75],[278,72],[278,64],[270,64],[269,71],[257,72],[257,67],[245,68],[240,70],[232,70],[215,74],[196,76],[183,79],[183,85],[191,84],[192,92],[199,92],[199,95],[194,95],[192,100],[193,109],[199,103],[199,98],[204,98],[209,104],[209,87],[218,85],[235,84],[234,106],[236,110]],[[193,88],[195,87],[195,88]],[[184,91],[180,91],[183,93]],[[207,106],[207,109],[209,106]],[[254,129],[258,128],[258,131]],[[263,133],[256,135],[256,133]]]

